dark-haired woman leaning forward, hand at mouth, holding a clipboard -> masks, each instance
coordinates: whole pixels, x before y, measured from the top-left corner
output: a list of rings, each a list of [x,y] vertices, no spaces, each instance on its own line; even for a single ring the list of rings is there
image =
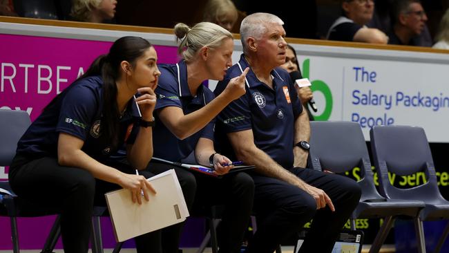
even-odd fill
[[[145,169],[153,156],[156,62],[155,48],[145,39],[117,39],[19,140],[11,187],[30,201],[39,193],[40,203],[60,210],[64,252],[88,252],[94,197],[104,202],[104,191],[118,187],[130,189],[137,203],[155,194],[135,169]],[[132,167],[111,167],[108,158],[122,144]],[[145,240],[136,243],[144,249]]]

